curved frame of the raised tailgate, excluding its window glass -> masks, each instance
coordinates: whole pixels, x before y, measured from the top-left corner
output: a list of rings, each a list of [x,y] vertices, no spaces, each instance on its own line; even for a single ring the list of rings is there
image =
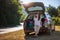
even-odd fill
[[[24,6],[26,12],[29,12],[28,11],[29,7],[35,7],[35,6],[40,6],[43,8],[43,11],[45,11],[45,7],[44,7],[44,4],[42,2],[30,2],[28,4],[23,4],[23,6]]]

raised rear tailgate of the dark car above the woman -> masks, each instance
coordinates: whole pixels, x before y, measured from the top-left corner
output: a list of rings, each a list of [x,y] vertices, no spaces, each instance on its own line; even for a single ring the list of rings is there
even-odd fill
[[[28,4],[23,4],[23,6],[24,6],[25,11],[27,13],[28,12],[33,12],[32,10],[35,9],[35,8],[36,9],[41,9],[41,8],[37,8],[37,7],[42,7],[43,8],[43,12],[45,11],[44,4],[42,2],[31,2],[31,3],[28,3]],[[32,7],[35,7],[35,8],[32,8]],[[30,9],[30,8],[32,8],[32,9],[29,11],[28,9]]]

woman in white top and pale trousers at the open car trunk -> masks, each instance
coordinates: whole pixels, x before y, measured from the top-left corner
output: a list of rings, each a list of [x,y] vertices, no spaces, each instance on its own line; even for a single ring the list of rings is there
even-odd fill
[[[38,36],[40,27],[42,27],[42,22],[40,18],[41,12],[36,12],[36,15],[34,16],[34,31],[35,36]]]

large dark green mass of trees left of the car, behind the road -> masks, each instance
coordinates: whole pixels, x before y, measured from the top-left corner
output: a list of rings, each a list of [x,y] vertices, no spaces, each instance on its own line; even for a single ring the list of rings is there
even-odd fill
[[[0,27],[20,25],[21,15],[18,0],[0,0]]]

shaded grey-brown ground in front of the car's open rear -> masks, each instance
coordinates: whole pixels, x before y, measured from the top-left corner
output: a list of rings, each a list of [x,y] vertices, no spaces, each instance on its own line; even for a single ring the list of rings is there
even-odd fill
[[[59,26],[60,27],[60,26]],[[34,36],[27,36],[25,37],[26,40],[60,40],[60,29],[58,30],[57,27],[55,28],[56,31],[53,32],[51,35],[39,35],[38,37]]]

